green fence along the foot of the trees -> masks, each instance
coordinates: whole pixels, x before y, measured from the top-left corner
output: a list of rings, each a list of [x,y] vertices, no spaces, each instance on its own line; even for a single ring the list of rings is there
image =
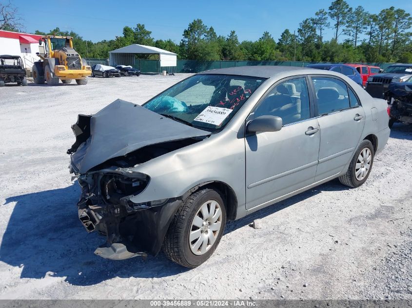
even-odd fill
[[[104,64],[109,65],[107,59],[85,58],[89,65]],[[197,60],[177,60],[177,68],[174,72],[203,72],[207,70],[223,69],[228,67],[251,66],[251,65],[283,65],[305,67],[314,63],[333,63],[333,62],[305,62],[305,61],[197,61]],[[344,62],[339,62],[344,63]],[[379,66],[386,69],[393,63],[362,63]],[[142,73],[160,73],[167,70],[160,67],[159,60],[135,59],[135,68]]]

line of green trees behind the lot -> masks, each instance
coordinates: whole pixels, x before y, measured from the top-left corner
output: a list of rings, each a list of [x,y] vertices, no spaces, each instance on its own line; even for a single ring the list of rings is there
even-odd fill
[[[411,26],[412,17],[403,9],[391,6],[371,14],[360,5],[352,8],[345,0],[335,0],[328,9],[319,9],[313,17],[302,20],[296,31],[285,29],[277,41],[268,31],[255,41],[240,42],[235,30],[227,36],[218,36],[215,29],[201,19],[189,23],[178,44],[171,39],[155,40],[152,32],[140,23],[134,28],[125,26],[122,36],[96,43],[59,28],[47,33],[37,30],[35,34],[73,36],[75,48],[89,58],[107,58],[111,50],[141,44],[165,49],[176,53],[179,59],[189,60],[411,63]],[[328,31],[333,33],[333,38],[325,40]]]

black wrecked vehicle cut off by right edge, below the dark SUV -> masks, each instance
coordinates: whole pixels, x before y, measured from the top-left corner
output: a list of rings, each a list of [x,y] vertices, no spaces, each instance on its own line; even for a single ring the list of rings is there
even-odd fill
[[[389,84],[385,98],[390,104],[388,106],[389,127],[392,127],[395,122],[412,124],[412,76],[406,81]]]

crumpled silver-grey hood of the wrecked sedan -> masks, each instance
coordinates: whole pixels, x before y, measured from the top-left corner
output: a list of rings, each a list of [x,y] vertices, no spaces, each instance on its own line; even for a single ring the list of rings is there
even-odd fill
[[[78,172],[85,173],[146,145],[210,134],[118,99],[90,118],[90,137],[78,146],[71,159]]]

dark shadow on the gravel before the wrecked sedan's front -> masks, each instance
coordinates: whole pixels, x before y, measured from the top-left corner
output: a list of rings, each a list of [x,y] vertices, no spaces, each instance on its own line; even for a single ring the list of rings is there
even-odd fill
[[[6,199],[17,202],[0,246],[0,261],[22,268],[20,278],[65,277],[73,285],[98,284],[113,277],[154,278],[188,269],[163,254],[122,261],[94,254],[104,242],[87,234],[77,216],[78,184]]]

